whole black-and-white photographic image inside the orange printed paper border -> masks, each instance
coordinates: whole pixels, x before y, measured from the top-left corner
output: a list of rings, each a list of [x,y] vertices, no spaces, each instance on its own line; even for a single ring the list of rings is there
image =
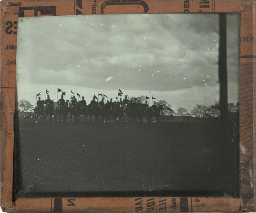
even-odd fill
[[[240,16],[225,20],[227,82],[217,13],[20,17],[17,197],[238,198]]]

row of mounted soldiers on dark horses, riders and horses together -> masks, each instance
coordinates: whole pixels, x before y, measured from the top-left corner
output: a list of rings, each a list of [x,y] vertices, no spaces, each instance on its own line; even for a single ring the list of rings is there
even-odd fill
[[[43,115],[44,121],[46,121],[48,115],[50,116],[50,121],[52,121],[52,115],[54,115],[53,100],[50,100],[49,95],[45,101],[41,101],[40,97],[38,99],[37,107],[34,110],[36,121],[38,117],[40,117],[41,120],[41,115]],[[85,120],[87,122],[87,118],[89,118],[89,121],[91,122],[93,115],[97,122],[98,119],[100,122],[109,122],[110,116],[113,117],[114,122],[117,122],[117,116],[119,117],[119,122],[121,122],[121,120],[125,121],[126,116],[127,122],[143,122],[143,118],[146,118],[147,121],[151,122],[151,118],[153,117],[159,121],[160,110],[163,110],[161,105],[157,107],[155,101],[154,104],[149,107],[147,101],[145,101],[145,104],[142,104],[138,98],[137,101],[134,102],[132,99],[128,99],[128,95],[125,95],[124,100],[120,98],[117,102],[113,102],[113,99],[111,98],[110,101],[107,100],[106,104],[103,97],[99,102],[95,99],[98,98],[94,95],[93,100],[87,105],[84,96],[82,96],[81,101],[77,101],[76,97],[72,96],[70,104],[70,101],[65,101],[63,95],[61,95],[61,98],[57,102],[58,107],[55,109],[55,122],[57,120],[57,115],[59,116],[60,122],[61,120],[62,122],[67,122],[68,113],[70,113],[71,122],[73,116],[76,122],[80,122],[81,115],[84,115],[84,122]]]

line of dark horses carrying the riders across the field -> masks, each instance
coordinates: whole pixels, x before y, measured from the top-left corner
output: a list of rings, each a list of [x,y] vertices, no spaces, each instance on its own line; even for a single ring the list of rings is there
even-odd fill
[[[81,105],[80,102],[76,104],[69,104],[69,100],[66,101],[62,106],[58,106],[55,109],[55,122],[57,122],[57,116],[59,118],[59,122],[67,122],[67,115],[70,113],[70,121],[73,122],[73,118],[75,122],[81,122],[81,115],[84,115],[84,122],[92,121],[92,117],[94,115],[95,122],[106,122],[109,123],[111,116],[113,117],[113,121],[117,123],[117,117],[119,118],[119,122],[127,122],[127,123],[143,123],[144,118],[147,122],[151,123],[151,118],[156,118],[156,121],[159,121],[160,118],[160,110],[163,110],[162,105],[157,107],[157,109],[153,109],[153,107],[147,107],[145,104],[136,104],[129,103],[125,107],[121,106],[119,102],[108,102],[103,107],[99,107],[96,105]],[[52,121],[52,115],[54,115],[54,104],[53,101],[49,104],[44,113],[44,106],[38,106],[34,109],[35,113],[35,121],[41,121],[41,115],[44,122],[46,122],[46,118],[50,117],[50,121]]]

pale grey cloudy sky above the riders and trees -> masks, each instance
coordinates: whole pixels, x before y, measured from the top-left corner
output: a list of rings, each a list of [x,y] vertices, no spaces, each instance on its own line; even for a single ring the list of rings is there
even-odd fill
[[[18,101],[57,87],[84,95],[118,89],[174,109],[219,100],[218,14],[122,14],[19,18]],[[228,101],[239,100],[239,16],[227,15]],[[58,94],[60,98],[61,93]],[[151,99],[150,99],[151,104]]]

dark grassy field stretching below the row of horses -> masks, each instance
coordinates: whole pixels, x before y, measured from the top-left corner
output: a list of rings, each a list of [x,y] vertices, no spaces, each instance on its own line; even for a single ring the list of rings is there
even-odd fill
[[[19,195],[237,197],[239,146],[228,135],[205,123],[20,119]]]

